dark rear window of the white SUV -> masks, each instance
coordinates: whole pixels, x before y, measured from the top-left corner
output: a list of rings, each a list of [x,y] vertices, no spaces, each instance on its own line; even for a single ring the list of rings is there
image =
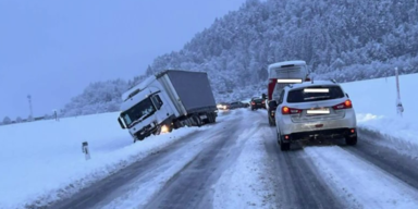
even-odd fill
[[[329,89],[328,93],[305,93],[305,89]],[[290,90],[287,94],[288,103],[320,101],[328,99],[343,98],[344,93],[340,86],[309,86],[306,88]]]

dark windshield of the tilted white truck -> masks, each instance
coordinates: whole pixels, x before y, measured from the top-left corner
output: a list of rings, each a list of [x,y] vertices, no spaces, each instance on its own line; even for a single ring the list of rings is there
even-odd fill
[[[156,111],[151,99],[146,98],[121,114],[127,127],[150,116]]]

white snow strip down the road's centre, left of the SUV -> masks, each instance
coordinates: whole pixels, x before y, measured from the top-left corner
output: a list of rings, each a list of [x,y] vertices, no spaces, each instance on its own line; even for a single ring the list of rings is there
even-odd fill
[[[274,192],[263,174],[267,164],[262,162],[268,162],[262,137],[265,128],[257,126],[257,123],[260,121],[253,122],[254,127],[238,136],[237,143],[245,140],[239,157],[212,186],[213,208],[273,207]]]

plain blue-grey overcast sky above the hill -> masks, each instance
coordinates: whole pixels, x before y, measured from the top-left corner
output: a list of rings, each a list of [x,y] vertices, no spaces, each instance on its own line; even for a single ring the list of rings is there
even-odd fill
[[[0,121],[62,108],[90,83],[132,78],[245,0],[0,0]]]

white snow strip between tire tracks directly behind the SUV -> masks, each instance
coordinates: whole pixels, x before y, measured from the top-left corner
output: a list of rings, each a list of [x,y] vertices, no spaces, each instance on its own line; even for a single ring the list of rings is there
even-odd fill
[[[416,189],[341,147],[307,147],[304,150],[312,159],[317,176],[322,176],[351,208],[418,206]]]

